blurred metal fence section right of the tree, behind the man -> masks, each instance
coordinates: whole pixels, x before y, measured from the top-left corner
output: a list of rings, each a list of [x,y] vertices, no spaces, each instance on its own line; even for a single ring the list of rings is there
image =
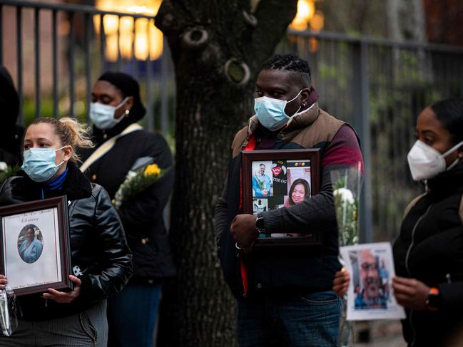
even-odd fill
[[[432,102],[463,95],[463,49],[288,31],[279,50],[310,62],[320,106],[360,136],[361,239],[395,239],[407,203],[422,190],[407,165],[417,115]]]

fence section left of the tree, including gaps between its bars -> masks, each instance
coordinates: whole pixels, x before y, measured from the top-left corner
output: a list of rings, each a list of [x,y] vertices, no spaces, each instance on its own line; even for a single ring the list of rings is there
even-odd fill
[[[117,27],[116,56],[108,59],[108,22]],[[121,27],[133,28],[131,57],[123,57]],[[116,23],[114,23],[116,21]],[[168,114],[175,91],[173,68],[166,45],[160,58],[151,60],[134,56],[140,21],[154,21],[153,16],[100,11],[93,6],[47,4],[32,1],[0,1],[0,64],[9,68],[21,95],[19,122],[29,123],[41,115],[72,115],[88,119],[91,87],[104,71],[124,71],[141,83],[150,130],[168,133]],[[163,44],[163,42],[159,43]],[[13,54],[15,51],[16,54]],[[162,88],[161,88],[162,86]],[[156,111],[156,112],[155,112]]]

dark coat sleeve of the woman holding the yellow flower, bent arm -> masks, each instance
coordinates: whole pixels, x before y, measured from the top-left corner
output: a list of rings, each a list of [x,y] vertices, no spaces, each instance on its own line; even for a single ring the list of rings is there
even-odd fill
[[[171,149],[161,135],[153,135],[141,157],[153,157],[161,169],[168,169],[163,177],[143,192],[128,199],[118,210],[127,232],[143,233],[143,226],[160,218],[173,188],[173,158]]]

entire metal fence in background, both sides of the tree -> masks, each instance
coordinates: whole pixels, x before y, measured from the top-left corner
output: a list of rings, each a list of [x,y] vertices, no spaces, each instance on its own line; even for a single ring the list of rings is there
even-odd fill
[[[173,134],[175,84],[167,45],[157,60],[123,58],[118,26],[116,59],[108,61],[106,16],[116,16],[118,24],[128,18],[133,28],[136,21],[153,20],[92,6],[0,0],[0,64],[14,75],[21,123],[39,115],[86,119],[92,84],[113,69],[141,82],[146,127]],[[97,26],[103,30],[97,33]],[[362,239],[393,239],[405,205],[420,189],[410,179],[406,160],[417,114],[433,101],[462,95],[463,49],[288,31],[278,51],[310,62],[321,107],[352,123],[360,136],[367,174]]]

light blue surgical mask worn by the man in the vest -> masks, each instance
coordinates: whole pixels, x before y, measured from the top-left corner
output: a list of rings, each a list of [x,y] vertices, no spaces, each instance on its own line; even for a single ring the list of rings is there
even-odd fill
[[[273,99],[268,96],[255,98],[254,110],[260,124],[270,131],[275,131],[285,126],[290,120],[290,116],[285,113],[286,104],[295,100],[302,90],[300,90],[300,92],[297,93],[297,95],[291,100]],[[299,112],[299,110],[300,108],[297,109],[295,114]]]

